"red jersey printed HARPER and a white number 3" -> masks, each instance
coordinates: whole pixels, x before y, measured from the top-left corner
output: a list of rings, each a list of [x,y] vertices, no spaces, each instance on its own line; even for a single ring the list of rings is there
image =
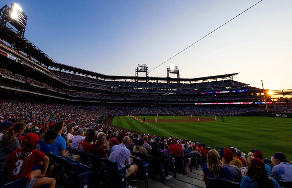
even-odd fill
[[[23,149],[16,149],[5,160],[5,162],[10,166],[7,183],[21,178],[29,178],[30,181],[31,169],[34,167],[36,161],[42,160],[46,156],[41,151],[33,149],[21,158],[22,152],[24,152]],[[27,182],[27,185],[29,181]]]

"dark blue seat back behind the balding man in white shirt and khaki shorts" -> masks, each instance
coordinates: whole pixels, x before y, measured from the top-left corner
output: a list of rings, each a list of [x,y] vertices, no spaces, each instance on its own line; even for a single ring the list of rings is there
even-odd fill
[[[108,159],[101,159],[101,166],[104,172],[103,182],[104,185],[114,187],[125,187],[126,167],[118,169],[118,163]]]

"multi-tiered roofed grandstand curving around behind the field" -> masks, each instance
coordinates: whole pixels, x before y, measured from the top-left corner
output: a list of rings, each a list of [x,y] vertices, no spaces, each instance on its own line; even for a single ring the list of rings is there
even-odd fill
[[[201,78],[104,75],[57,63],[26,39],[24,31],[19,34],[1,19],[0,63],[2,110],[40,110],[39,116],[62,120],[86,117],[86,124],[78,118],[73,121],[80,126],[97,124],[96,129],[106,127],[101,123],[107,117],[120,115],[239,116],[269,111],[271,116],[281,112],[292,117],[292,103],[287,97],[273,101],[268,90],[235,81],[239,72]],[[287,96],[291,91],[278,94]],[[167,185],[205,187],[201,171],[189,177],[177,175],[177,179],[179,182],[172,180]],[[141,184],[142,180],[134,183],[138,187]],[[150,178],[149,185],[165,186],[155,177]]]

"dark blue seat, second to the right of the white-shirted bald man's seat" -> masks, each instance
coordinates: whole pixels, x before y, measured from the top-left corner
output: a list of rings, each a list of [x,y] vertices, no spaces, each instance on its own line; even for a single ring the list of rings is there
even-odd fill
[[[147,163],[149,163],[149,172],[152,172],[154,175],[160,175],[162,178],[162,184],[164,184],[164,166],[160,163],[160,159],[153,157],[152,155],[147,155]]]

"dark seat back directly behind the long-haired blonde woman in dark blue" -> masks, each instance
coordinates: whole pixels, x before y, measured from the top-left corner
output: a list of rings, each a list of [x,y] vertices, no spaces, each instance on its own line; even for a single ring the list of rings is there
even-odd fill
[[[221,178],[209,178],[206,180],[206,188],[239,188],[239,183],[224,180]]]

